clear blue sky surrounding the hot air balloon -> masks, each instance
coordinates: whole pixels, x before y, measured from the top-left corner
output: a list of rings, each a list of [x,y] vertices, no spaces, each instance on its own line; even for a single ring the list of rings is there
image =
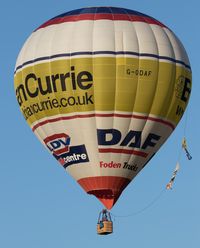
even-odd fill
[[[96,235],[101,204],[78,187],[38,142],[19,111],[13,71],[30,33],[46,20],[85,6],[120,6],[160,20],[183,42],[192,66],[193,90],[186,137],[193,159],[182,153],[172,191],[140,214],[114,218],[114,233]],[[199,44],[200,4],[183,1],[7,0],[1,6],[0,247],[181,247],[200,245]],[[159,153],[125,190],[112,213],[145,208],[163,190],[176,165],[185,117]]]

